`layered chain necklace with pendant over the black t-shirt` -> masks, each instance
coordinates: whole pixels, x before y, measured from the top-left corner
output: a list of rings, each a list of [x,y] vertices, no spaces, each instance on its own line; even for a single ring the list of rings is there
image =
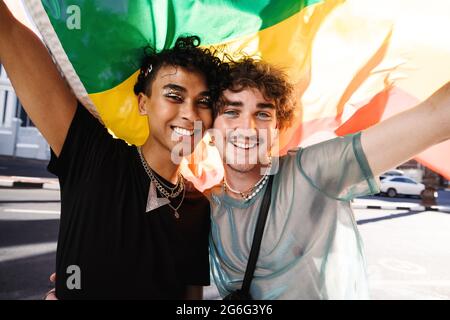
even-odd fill
[[[180,209],[181,205],[184,201],[184,196],[186,194],[186,188],[184,187],[184,178],[181,175],[181,173],[178,173],[178,179],[177,183],[174,187],[170,187],[166,185],[161,179],[158,178],[158,176],[154,173],[154,171],[150,168],[147,161],[144,158],[144,155],[142,154],[142,150],[140,147],[137,148],[139,157],[141,158],[142,166],[145,169],[145,172],[147,172],[148,177],[150,178],[151,183],[153,183],[158,191],[163,195],[163,197],[167,200],[167,204],[169,207],[173,210],[175,218],[179,219],[180,214],[178,213],[178,210]],[[174,207],[172,206],[171,199],[174,199],[180,195],[180,193],[183,193],[183,196],[181,197],[180,203]],[[155,195],[157,196],[157,195]]]

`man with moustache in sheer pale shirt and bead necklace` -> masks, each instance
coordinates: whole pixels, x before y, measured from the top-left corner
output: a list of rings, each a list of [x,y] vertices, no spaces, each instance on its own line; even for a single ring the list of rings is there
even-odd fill
[[[245,59],[231,67],[214,120],[225,168],[222,185],[210,193],[215,283],[222,296],[241,288],[267,175],[273,175],[252,297],[366,299],[350,200],[378,193],[379,174],[450,138],[450,83],[362,132],[273,158],[272,133],[289,125],[293,92],[286,76],[264,62]],[[400,144],[392,144],[394,136]]]

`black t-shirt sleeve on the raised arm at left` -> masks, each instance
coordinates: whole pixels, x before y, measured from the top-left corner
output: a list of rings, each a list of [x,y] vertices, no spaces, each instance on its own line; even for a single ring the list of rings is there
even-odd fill
[[[59,156],[51,150],[48,171],[59,177],[61,184],[83,179],[89,172],[101,167],[102,162],[113,156],[110,151],[117,143],[98,119],[78,102]]]

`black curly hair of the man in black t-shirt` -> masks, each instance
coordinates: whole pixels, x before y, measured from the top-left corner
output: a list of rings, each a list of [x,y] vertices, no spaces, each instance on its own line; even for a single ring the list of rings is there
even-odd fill
[[[144,48],[144,58],[141,63],[140,73],[134,93],[151,94],[151,84],[155,75],[163,66],[180,66],[189,71],[200,72],[205,76],[211,102],[216,103],[221,91],[226,87],[227,75],[229,72],[228,63],[222,62],[215,56],[213,49],[200,48],[200,38],[198,36],[179,37],[175,46],[170,49],[163,49],[156,52],[148,46]],[[148,72],[151,68],[151,72]]]

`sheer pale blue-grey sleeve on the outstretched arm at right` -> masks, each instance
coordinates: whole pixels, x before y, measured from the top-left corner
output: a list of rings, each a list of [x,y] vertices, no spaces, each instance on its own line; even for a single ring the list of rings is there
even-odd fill
[[[361,146],[361,132],[300,149],[297,156],[309,183],[329,197],[348,201],[380,192]]]

